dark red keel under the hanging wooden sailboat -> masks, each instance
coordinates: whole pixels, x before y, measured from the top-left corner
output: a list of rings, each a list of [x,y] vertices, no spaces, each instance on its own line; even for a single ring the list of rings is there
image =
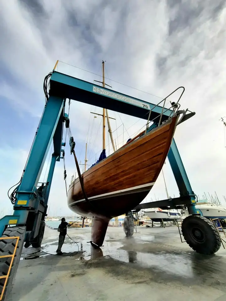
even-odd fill
[[[93,217],[91,242],[99,247],[103,245],[109,221],[108,218]]]

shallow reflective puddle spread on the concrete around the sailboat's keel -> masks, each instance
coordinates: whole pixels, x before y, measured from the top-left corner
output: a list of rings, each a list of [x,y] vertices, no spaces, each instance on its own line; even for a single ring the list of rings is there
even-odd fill
[[[166,233],[160,233],[161,236],[157,234],[153,235],[152,233],[150,235],[136,233],[132,238],[126,239],[123,233],[110,233],[106,235],[104,246],[100,249],[94,249],[88,243],[90,233],[83,235],[70,234],[78,246],[69,237],[66,237],[62,246],[62,252],[65,255],[73,256],[77,254],[79,249],[81,255],[75,257],[75,260],[101,260],[104,257],[105,264],[109,267],[112,266],[112,260],[114,260],[116,266],[117,262],[119,264],[120,262],[131,264],[132,266],[129,265],[128,269],[130,267],[140,269],[141,271],[143,269],[144,274],[149,271],[152,275],[158,273],[165,275],[162,277],[167,277],[168,275],[169,277],[181,277],[185,279],[192,279],[195,275],[207,272],[208,267],[211,267],[213,270],[213,265],[217,264],[218,260],[221,260],[222,256],[211,257],[211,259],[209,257],[206,259],[203,256],[197,256],[190,249],[184,250],[181,248],[181,245],[178,245],[178,250],[176,248],[170,249],[170,239],[175,234],[169,234],[172,237],[168,238],[162,238],[162,234],[167,236]],[[41,246],[40,253],[36,255],[40,255],[40,257],[56,255],[58,237],[56,239],[56,237],[51,236],[49,239],[54,240],[44,243]],[[159,241],[167,245],[163,246],[159,244]],[[32,247],[23,249],[21,260],[25,256],[30,256],[35,251],[37,250]]]

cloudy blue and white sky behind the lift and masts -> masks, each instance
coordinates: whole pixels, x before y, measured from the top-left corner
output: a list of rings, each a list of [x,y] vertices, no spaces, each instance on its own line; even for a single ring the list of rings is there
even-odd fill
[[[101,80],[104,60],[112,89],[151,103],[184,86],[181,108],[196,115],[176,129],[180,156],[193,191],[200,198],[216,191],[225,204],[225,128],[219,120],[226,116],[225,26],[226,5],[220,0],[1,1],[0,213],[12,212],[7,191],[21,177],[45,105],[44,77],[56,60],[61,61],[59,72],[89,82]],[[89,165],[102,148],[101,117],[90,112],[102,114],[101,108],[72,101],[69,117],[76,154],[83,164],[87,142]],[[145,124],[116,112],[109,116],[116,119],[111,126],[118,146]],[[106,141],[109,153],[108,136]],[[75,172],[68,143],[65,164],[68,185]],[[168,160],[164,176],[169,195],[179,196]],[[160,173],[146,201],[165,198]],[[50,215],[72,214],[62,161],[56,164],[49,206]]]

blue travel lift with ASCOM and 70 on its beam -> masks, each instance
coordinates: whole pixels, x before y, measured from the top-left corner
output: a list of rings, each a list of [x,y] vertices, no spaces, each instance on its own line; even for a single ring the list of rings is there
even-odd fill
[[[56,65],[57,63],[58,61]],[[167,120],[173,112],[172,109],[165,110],[164,106],[154,105],[56,72],[56,65],[53,72],[50,72],[44,79],[45,108],[35,133],[35,139],[23,175],[10,196],[14,209],[13,215],[6,215],[0,219],[0,300],[5,300],[6,294],[12,286],[23,246],[29,247],[32,245],[35,248],[41,246],[55,164],[64,159],[65,143],[62,141],[64,124],[66,128],[69,128],[69,118],[65,113],[66,99],[69,99],[69,101],[74,99],[146,120],[154,119],[153,126],[158,125],[160,118],[161,122]],[[47,92],[48,80],[50,83],[49,92]],[[179,87],[175,91],[179,90],[182,91],[181,98],[184,87]],[[165,100],[163,101],[165,103]],[[177,103],[172,103],[172,108],[174,105],[177,106]],[[181,112],[182,117],[179,123],[195,114],[189,110]],[[39,183],[52,141],[54,150],[47,182]],[[71,137],[71,150],[74,145],[73,137]],[[201,216],[200,212],[196,212],[196,195],[192,191],[174,139],[168,159],[180,191],[180,197],[151,203],[151,207],[164,209],[186,206],[191,214],[182,223],[182,234],[186,242],[199,253],[213,254],[221,246],[218,231],[211,221]],[[139,205],[136,209],[140,210],[142,208],[150,208],[150,203]]]

